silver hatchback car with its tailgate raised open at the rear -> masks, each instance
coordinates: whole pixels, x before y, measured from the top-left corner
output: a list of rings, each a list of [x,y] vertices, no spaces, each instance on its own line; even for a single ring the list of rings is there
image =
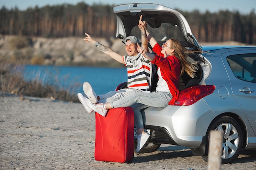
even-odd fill
[[[242,149],[256,148],[255,46],[200,46],[184,16],[159,4],[123,4],[113,11],[121,40],[129,35],[141,38],[137,24],[143,15],[159,44],[176,38],[188,49],[204,51],[187,58],[199,61],[198,72],[194,79],[180,77],[175,105],[142,110],[151,134],[143,152],[173,144],[189,147],[207,161],[210,130],[223,132],[222,163],[234,161]]]

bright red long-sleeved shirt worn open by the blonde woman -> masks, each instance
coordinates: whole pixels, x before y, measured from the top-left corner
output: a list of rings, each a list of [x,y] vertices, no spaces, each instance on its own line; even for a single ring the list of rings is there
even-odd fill
[[[181,64],[180,61],[174,55],[169,55],[164,58],[164,54],[161,53],[162,46],[155,44],[153,51],[157,53],[153,61],[153,64],[156,64],[160,67],[162,78],[167,82],[168,88],[170,89],[171,95],[173,98],[169,104],[174,104],[179,97],[179,81],[180,81],[180,72]]]

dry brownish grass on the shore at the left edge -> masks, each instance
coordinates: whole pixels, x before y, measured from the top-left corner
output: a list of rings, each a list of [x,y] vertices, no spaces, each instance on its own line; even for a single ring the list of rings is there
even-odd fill
[[[0,60],[0,91],[16,95],[52,98],[69,102],[79,102],[76,94],[70,89],[63,90],[55,80],[54,85],[43,83],[40,79],[25,81],[22,66]]]

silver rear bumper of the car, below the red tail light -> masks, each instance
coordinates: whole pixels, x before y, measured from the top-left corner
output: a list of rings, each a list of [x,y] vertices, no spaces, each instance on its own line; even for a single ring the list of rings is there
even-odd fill
[[[150,129],[150,142],[197,148],[202,144],[209,124],[214,119],[204,99],[191,106],[148,107],[145,128]]]

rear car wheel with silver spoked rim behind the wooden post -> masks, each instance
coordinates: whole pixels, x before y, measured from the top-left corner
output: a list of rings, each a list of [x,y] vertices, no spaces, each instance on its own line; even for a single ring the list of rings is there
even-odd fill
[[[221,155],[222,164],[233,162],[239,156],[243,147],[243,132],[238,122],[230,116],[222,116],[211,124],[207,131],[206,154],[202,156],[204,161],[208,161],[209,132],[211,130],[221,130],[224,134]]]

